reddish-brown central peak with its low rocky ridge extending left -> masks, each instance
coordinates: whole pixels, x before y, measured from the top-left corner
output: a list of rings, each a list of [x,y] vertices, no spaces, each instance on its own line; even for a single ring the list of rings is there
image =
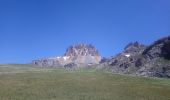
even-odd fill
[[[101,56],[91,44],[76,44],[67,48],[64,56],[43,58],[32,63],[46,67],[81,67],[99,64]]]

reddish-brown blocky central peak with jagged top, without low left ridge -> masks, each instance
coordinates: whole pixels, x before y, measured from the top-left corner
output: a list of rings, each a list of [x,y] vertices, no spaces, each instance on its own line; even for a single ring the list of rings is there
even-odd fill
[[[91,44],[78,44],[70,46],[65,53],[75,64],[99,64],[101,56]]]

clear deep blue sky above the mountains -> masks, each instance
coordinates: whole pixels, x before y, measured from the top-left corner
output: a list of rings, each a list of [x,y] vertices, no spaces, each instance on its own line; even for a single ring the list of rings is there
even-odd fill
[[[29,63],[91,43],[110,57],[170,35],[170,0],[0,0],[0,63]]]

